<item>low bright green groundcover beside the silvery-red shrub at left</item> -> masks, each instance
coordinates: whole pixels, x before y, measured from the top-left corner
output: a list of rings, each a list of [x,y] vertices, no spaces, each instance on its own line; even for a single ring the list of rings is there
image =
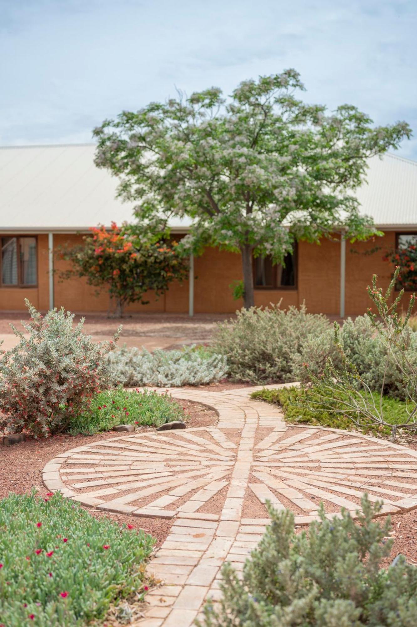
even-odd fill
[[[71,419],[68,431],[73,435],[93,435],[110,431],[116,424],[158,427],[173,420],[185,420],[185,413],[168,393],[128,391],[118,387],[96,394],[90,406]]]

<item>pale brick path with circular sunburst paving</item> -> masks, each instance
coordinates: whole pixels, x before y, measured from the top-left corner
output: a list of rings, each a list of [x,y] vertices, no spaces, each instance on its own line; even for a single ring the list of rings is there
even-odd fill
[[[278,408],[249,398],[254,389],[174,389],[175,398],[217,409],[217,425],[126,434],[66,451],[44,468],[47,488],[85,505],[173,520],[148,566],[163,587],[148,593],[140,627],[188,627],[205,598],[219,599],[224,561],[242,571],[264,533],[265,500],[291,508],[298,525],[317,519],[320,502],[329,516],[341,507],[355,515],[363,492],[383,500],[381,514],[417,507],[417,451],[287,426]]]

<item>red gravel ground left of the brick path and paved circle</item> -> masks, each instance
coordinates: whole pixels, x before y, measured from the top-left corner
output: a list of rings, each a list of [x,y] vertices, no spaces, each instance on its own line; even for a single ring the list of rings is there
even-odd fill
[[[189,427],[209,426],[217,422],[218,416],[214,409],[209,409],[201,403],[193,403],[192,401],[181,401],[181,404],[185,409],[185,414],[187,414]],[[153,430],[152,428],[143,428],[143,431]],[[0,498],[6,497],[9,492],[24,494],[30,492],[32,488],[38,490],[40,495],[45,496],[48,490],[42,483],[41,473],[49,460],[58,453],[76,446],[110,440],[110,438],[116,438],[118,435],[121,434],[115,431],[95,436],[58,435],[48,440],[28,440],[13,446],[0,445]],[[165,540],[172,525],[171,520],[104,513],[93,508],[86,509],[93,516],[107,516],[119,524],[125,522],[134,525],[136,529],[147,531],[157,539],[158,546]]]

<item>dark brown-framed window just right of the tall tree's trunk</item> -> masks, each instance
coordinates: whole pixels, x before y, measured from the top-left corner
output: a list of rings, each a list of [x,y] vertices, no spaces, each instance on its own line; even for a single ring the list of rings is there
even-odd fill
[[[284,263],[272,263],[270,256],[254,259],[256,290],[291,290],[296,288],[296,251],[284,257]]]

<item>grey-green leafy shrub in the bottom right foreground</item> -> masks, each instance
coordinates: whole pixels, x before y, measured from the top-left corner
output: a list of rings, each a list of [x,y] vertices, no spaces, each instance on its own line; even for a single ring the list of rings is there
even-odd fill
[[[204,608],[205,627],[415,627],[417,569],[404,557],[381,569],[393,540],[389,520],[373,522],[380,504],[362,499],[355,524],[348,512],[296,534],[294,516],[268,506],[271,524],[243,578],[222,569],[223,598]]]

